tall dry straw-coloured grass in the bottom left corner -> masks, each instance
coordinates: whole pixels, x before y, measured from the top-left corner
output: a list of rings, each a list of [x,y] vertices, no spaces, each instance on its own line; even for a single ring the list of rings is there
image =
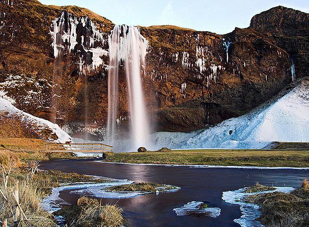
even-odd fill
[[[43,193],[33,181],[39,166],[37,161],[29,161],[26,177],[14,172],[15,161],[0,163],[2,183],[0,184],[0,220],[8,226],[56,227],[53,216],[40,207]],[[16,171],[16,170],[15,170]]]

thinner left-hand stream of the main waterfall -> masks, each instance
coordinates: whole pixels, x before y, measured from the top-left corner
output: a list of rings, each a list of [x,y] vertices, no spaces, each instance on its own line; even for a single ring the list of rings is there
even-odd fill
[[[118,112],[118,70],[120,64],[120,29],[115,26],[109,36],[107,142],[113,145]]]

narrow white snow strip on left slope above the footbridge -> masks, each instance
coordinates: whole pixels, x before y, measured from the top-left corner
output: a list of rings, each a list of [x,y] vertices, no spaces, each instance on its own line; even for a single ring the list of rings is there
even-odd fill
[[[57,124],[51,123],[50,121],[47,121],[42,118],[35,117],[31,114],[25,113],[16,107],[14,107],[9,100],[7,100],[4,97],[0,97],[0,112],[8,112],[8,116],[12,115],[14,117],[18,116],[22,122],[30,124],[30,125],[36,125],[39,130],[43,129],[50,129],[53,133],[55,133],[58,137],[58,140],[55,142],[58,143],[66,143],[71,142],[71,137],[65,133]]]

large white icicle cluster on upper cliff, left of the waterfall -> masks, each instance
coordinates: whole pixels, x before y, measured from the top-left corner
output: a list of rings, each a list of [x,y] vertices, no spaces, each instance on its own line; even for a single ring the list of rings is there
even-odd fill
[[[63,11],[59,18],[53,20],[51,34],[55,58],[70,54],[78,46],[79,70],[83,74],[100,67],[103,64],[101,57],[108,55],[104,49],[104,33],[97,29],[89,17],[76,17]]]

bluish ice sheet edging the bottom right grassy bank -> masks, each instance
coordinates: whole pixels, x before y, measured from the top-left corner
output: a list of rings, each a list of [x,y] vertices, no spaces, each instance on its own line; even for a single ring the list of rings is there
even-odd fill
[[[259,206],[256,204],[245,203],[243,199],[247,195],[253,195],[256,193],[267,193],[267,192],[291,192],[294,188],[292,187],[277,187],[272,191],[263,191],[263,192],[255,192],[255,193],[244,193],[246,188],[241,188],[235,191],[227,191],[222,193],[222,199],[230,204],[240,205],[241,217],[239,219],[235,219],[234,222],[238,223],[241,227],[264,227],[259,221],[256,219],[260,217],[261,212],[259,211]]]

